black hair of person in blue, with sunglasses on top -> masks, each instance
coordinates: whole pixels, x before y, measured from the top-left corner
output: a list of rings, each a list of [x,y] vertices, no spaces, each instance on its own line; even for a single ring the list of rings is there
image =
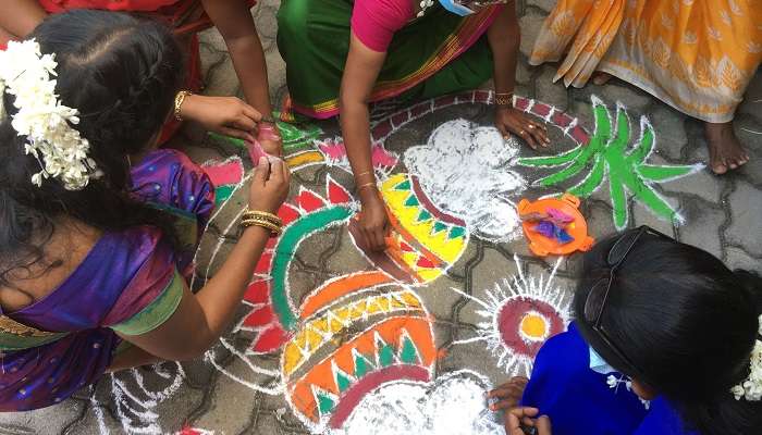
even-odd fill
[[[607,277],[616,237],[583,258],[574,310],[580,333],[611,365],[643,382],[703,435],[762,433],[762,402],[736,400],[749,376],[762,313],[762,278],[733,272],[699,248],[644,234],[615,273],[602,325],[635,365],[610,350],[585,320],[587,296]]]

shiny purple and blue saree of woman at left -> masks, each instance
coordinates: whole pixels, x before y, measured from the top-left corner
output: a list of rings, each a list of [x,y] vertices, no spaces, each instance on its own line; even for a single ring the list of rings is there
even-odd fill
[[[181,223],[175,252],[155,227],[106,233],[45,298],[0,310],[0,411],[60,402],[96,382],[122,340],[169,319],[193,273],[193,254],[214,207],[207,174],[186,156],[158,150],[132,170],[134,195]]]

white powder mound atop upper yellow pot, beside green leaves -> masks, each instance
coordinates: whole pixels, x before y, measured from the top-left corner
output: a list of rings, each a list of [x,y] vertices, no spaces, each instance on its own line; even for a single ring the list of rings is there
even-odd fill
[[[511,170],[518,151],[519,144],[503,139],[495,127],[455,120],[434,129],[426,145],[405,151],[405,165],[440,210],[481,238],[507,241],[518,234],[514,201],[527,187]]]

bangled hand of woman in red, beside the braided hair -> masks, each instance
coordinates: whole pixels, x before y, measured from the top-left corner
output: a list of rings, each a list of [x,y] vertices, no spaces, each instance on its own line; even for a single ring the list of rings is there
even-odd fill
[[[201,124],[207,130],[249,141],[254,141],[257,123],[262,119],[256,109],[239,98],[199,95],[185,98],[180,116]]]

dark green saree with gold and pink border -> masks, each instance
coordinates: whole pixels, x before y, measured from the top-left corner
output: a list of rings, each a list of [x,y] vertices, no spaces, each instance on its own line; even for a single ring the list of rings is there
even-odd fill
[[[353,0],[283,0],[278,48],[286,62],[286,109],[317,119],[339,113]],[[371,101],[426,99],[479,87],[492,76],[484,33],[500,7],[462,17],[435,4],[395,33]]]

